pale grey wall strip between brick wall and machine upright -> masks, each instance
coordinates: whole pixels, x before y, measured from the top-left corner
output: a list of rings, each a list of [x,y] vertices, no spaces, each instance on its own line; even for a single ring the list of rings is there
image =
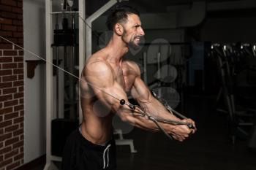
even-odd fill
[[[23,1],[24,47],[45,58],[45,1]],[[25,61],[38,58],[24,53]],[[38,64],[34,77],[27,77],[25,66],[24,163],[45,154],[45,65]]]

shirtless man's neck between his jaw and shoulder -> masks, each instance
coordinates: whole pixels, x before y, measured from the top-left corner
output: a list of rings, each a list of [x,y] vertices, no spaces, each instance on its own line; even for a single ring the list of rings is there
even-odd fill
[[[109,51],[111,61],[116,63],[120,63],[124,55],[129,51],[127,45],[122,41],[121,36],[117,36],[116,34],[112,36],[106,48]]]

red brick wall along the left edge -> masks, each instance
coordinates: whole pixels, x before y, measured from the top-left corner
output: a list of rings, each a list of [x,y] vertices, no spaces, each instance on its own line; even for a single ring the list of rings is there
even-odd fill
[[[0,0],[0,35],[23,47],[23,1]],[[0,170],[23,164],[23,50],[0,38]]]

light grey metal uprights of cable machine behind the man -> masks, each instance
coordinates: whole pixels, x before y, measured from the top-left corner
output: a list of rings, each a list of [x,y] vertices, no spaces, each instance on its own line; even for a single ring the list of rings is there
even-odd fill
[[[86,17],[85,1],[79,0],[78,14]],[[46,33],[46,60],[53,61],[53,0],[45,1],[45,33]],[[60,12],[63,13],[63,12]],[[86,27],[83,20],[79,20],[79,74],[83,70],[85,63],[86,50],[84,48],[86,42]],[[80,98],[79,98],[80,102]],[[79,107],[80,108],[80,107]],[[79,109],[79,120],[82,119],[82,111]],[[61,158],[53,156],[51,154],[51,120],[53,119],[53,66],[50,63],[46,63],[46,164],[44,170],[57,169],[53,164],[53,161],[61,161]]]

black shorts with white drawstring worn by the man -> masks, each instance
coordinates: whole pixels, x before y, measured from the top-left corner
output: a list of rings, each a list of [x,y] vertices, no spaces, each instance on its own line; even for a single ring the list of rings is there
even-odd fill
[[[86,140],[79,128],[70,134],[62,157],[63,170],[116,169],[116,144],[112,139],[102,145]]]

